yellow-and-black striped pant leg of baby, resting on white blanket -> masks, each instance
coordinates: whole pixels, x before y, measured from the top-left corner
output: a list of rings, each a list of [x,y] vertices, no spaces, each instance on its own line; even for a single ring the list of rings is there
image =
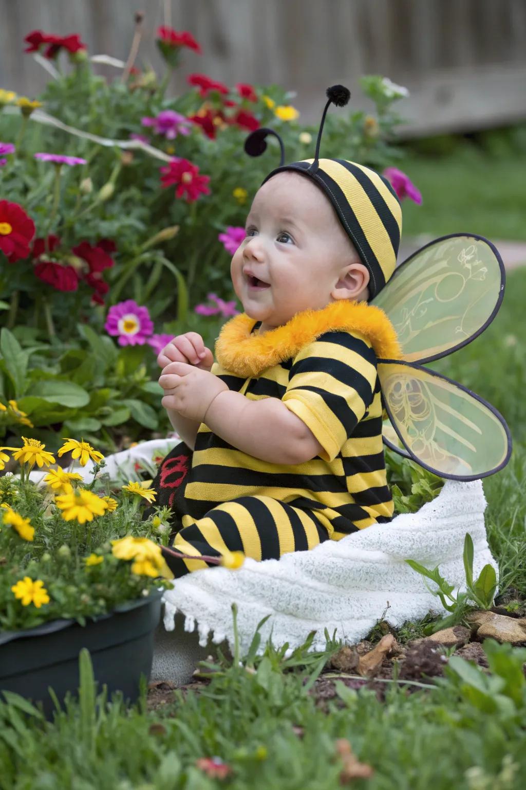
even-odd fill
[[[242,551],[256,560],[279,559],[289,551],[307,551],[323,543],[331,531],[320,513],[268,496],[246,496],[224,502],[185,526],[175,536],[173,548],[193,556]],[[200,559],[170,555],[166,555],[166,562],[175,577],[207,567],[207,562]]]

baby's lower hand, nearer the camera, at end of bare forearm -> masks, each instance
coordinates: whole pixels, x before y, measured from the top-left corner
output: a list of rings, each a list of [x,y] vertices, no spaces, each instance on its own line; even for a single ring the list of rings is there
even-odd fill
[[[177,338],[176,338],[177,339]],[[160,356],[160,355],[159,355]],[[228,387],[210,371],[184,362],[170,362],[163,368],[159,384],[164,389],[162,405],[187,419],[203,423],[215,397]]]

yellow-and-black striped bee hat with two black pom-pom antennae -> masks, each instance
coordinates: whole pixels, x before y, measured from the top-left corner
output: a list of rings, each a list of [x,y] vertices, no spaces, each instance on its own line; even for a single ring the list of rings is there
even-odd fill
[[[328,101],[319,125],[314,159],[284,164],[285,149],[282,138],[272,129],[263,127],[250,134],[244,149],[251,156],[259,156],[267,148],[268,134],[278,137],[282,151],[279,167],[271,171],[265,183],[276,173],[294,171],[312,179],[323,190],[334,206],[349,239],[371,276],[369,298],[382,290],[394,272],[401,235],[401,206],[390,182],[363,164],[345,159],[319,159],[326,112],[331,103],[344,107],[350,92],[343,85],[327,88]]]

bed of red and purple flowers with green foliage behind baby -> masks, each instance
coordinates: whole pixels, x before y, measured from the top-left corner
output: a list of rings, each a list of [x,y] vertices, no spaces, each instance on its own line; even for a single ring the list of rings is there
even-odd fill
[[[137,68],[142,24],[138,14],[114,80],[96,73],[100,57],[90,58],[79,34],[33,31],[26,51],[46,58],[53,78],[38,100],[0,90],[0,435],[8,444],[27,427],[52,451],[63,434],[111,452],[165,434],[155,355],[181,331],[212,346],[235,314],[229,258],[278,160],[275,140],[258,160],[245,156],[246,135],[273,126],[289,160],[312,152],[314,130],[277,85],[229,86],[196,71],[186,91],[169,96],[173,69],[183,55],[198,58],[200,44],[163,26],[166,73]],[[382,169],[397,160],[393,103],[405,88],[382,77],[364,77],[362,87],[375,114],[329,115],[323,152]],[[394,175],[395,188],[414,198]]]

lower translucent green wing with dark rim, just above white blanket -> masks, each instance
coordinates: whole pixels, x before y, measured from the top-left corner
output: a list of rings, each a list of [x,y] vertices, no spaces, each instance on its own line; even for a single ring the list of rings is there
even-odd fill
[[[420,466],[453,480],[478,480],[507,464],[509,429],[490,404],[420,365],[379,360],[378,374],[391,426]],[[398,450],[389,428],[386,438]]]

